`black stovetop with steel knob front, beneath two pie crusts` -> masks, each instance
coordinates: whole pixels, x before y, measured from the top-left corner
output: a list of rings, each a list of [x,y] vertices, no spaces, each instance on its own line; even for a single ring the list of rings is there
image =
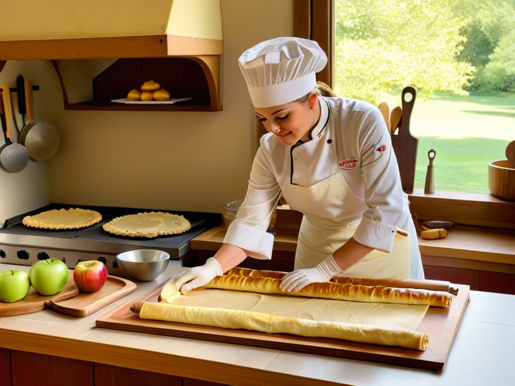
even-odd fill
[[[30,228],[22,223],[25,216],[74,207],[96,210],[102,220],[84,229],[59,231]],[[152,211],[183,215],[190,221],[191,229],[179,235],[151,239],[117,236],[102,229],[103,224],[115,217]],[[116,265],[116,254],[134,249],[159,249],[169,253],[171,259],[180,259],[190,250],[193,238],[220,224],[221,216],[217,213],[50,203],[5,220],[0,229],[0,262],[31,265],[38,259],[57,257],[65,259],[68,267],[74,268],[79,260],[100,258]]]

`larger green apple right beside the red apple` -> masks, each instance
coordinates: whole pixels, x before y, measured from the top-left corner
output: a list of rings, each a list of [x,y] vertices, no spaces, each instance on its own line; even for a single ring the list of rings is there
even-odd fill
[[[61,292],[68,280],[68,267],[59,259],[36,261],[29,269],[30,284],[40,295],[48,296]]]

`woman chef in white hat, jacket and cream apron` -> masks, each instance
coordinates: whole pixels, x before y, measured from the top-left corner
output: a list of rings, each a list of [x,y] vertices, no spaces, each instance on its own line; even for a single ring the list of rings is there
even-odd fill
[[[281,196],[303,214],[283,291],[334,276],[424,278],[384,118],[367,102],[317,85],[326,63],[317,42],[291,37],[261,42],[239,58],[268,133],[224,243],[204,265],[173,278],[178,289],[206,285],[248,256],[270,259],[273,235],[266,231]]]

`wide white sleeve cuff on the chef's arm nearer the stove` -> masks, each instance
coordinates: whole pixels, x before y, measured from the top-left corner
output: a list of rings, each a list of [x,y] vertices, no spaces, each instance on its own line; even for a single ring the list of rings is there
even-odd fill
[[[224,243],[246,250],[250,257],[262,260],[272,258],[273,235],[235,221],[229,225]]]

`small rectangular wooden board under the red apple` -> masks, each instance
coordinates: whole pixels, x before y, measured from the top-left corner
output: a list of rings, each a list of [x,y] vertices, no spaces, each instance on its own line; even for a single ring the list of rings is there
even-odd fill
[[[136,284],[122,277],[107,276],[106,284],[96,292],[80,292],[67,300],[52,300],[50,307],[72,317],[85,317],[134,292]]]

